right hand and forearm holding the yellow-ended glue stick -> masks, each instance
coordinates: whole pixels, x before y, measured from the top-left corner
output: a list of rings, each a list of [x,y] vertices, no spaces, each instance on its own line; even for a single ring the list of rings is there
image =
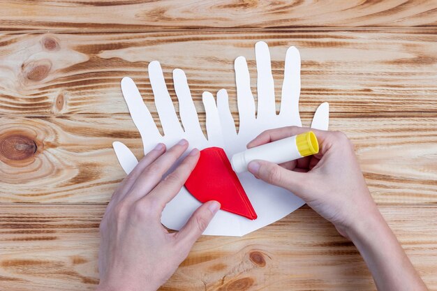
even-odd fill
[[[306,131],[296,126],[267,130],[248,147]],[[320,143],[318,154],[283,165],[252,161],[249,171],[301,197],[353,241],[379,291],[428,290],[373,202],[348,137],[341,132],[313,132]]]

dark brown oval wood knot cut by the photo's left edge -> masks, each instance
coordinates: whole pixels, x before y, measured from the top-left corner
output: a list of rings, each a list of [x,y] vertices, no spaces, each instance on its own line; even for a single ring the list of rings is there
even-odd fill
[[[0,155],[12,161],[22,161],[34,156],[38,147],[24,135],[0,137]]]

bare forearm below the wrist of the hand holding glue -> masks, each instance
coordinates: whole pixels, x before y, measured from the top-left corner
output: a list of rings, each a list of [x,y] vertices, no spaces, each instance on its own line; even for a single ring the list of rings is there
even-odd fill
[[[428,290],[376,209],[348,232],[379,291]]]

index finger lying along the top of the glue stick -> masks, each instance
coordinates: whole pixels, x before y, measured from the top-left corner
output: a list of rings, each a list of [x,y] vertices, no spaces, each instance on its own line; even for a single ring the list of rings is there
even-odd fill
[[[258,147],[261,144],[267,144],[268,142],[274,142],[275,140],[282,140],[283,138],[290,137],[293,135],[299,135],[300,133],[306,133],[308,131],[313,131],[316,134],[317,139],[320,142],[323,142],[327,135],[329,134],[325,130],[317,130],[313,128],[304,128],[299,126],[286,126],[281,128],[274,128],[265,130],[260,135],[255,137],[249,144],[247,144],[247,148]]]

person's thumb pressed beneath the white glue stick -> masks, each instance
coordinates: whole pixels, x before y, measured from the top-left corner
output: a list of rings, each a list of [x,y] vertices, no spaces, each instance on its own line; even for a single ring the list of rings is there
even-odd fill
[[[248,169],[258,179],[268,184],[286,188],[295,195],[300,196],[302,188],[304,188],[304,180],[306,178],[304,173],[287,170],[275,163],[255,160],[249,163]]]

